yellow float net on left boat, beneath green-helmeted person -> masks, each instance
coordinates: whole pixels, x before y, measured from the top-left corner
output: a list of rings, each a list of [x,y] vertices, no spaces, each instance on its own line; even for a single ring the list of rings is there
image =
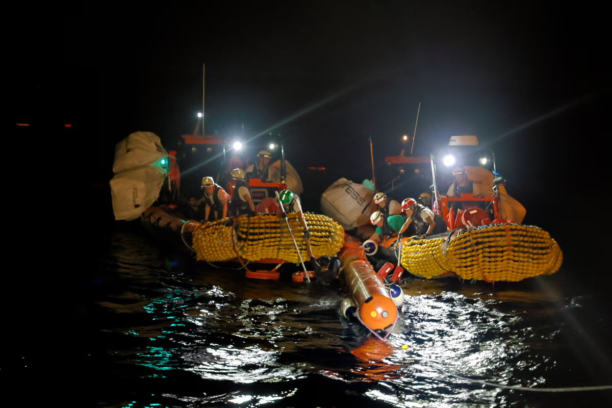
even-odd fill
[[[344,229],[325,215],[305,213],[310,231],[310,247],[315,258],[334,256],[344,244]],[[287,215],[289,226],[300,248],[302,259],[310,260],[304,228],[296,213]],[[193,249],[198,261],[223,262],[241,256],[248,261],[282,259],[299,263],[296,247],[285,220],[276,215],[241,215],[200,224],[193,231]]]

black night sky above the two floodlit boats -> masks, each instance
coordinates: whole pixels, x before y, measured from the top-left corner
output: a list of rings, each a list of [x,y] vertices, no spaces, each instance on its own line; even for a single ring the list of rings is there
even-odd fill
[[[603,184],[589,171],[610,150],[610,35],[595,3],[200,2],[43,20],[50,31],[24,34],[40,52],[20,67],[18,122],[58,134],[86,185],[108,182],[129,133],[171,149],[193,131],[204,63],[207,133],[274,127],[298,169],[370,177],[368,136],[377,161],[398,154],[420,102],[416,153],[450,135],[491,141],[528,213],[543,191]]]

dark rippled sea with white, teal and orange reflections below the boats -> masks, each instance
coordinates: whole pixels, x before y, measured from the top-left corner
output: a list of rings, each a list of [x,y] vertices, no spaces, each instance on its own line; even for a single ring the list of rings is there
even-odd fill
[[[609,391],[485,384],[612,384],[607,295],[572,292],[575,273],[495,285],[408,279],[384,343],[341,317],[343,289],[329,276],[248,280],[144,233],[114,232],[86,280],[79,357],[91,387],[80,406],[605,406]]]

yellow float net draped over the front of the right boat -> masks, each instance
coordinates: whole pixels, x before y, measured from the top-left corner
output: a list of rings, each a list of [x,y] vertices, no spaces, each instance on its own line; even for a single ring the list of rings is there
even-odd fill
[[[548,232],[518,224],[413,239],[401,248],[401,265],[427,279],[454,272],[463,279],[520,281],[550,275],[562,260],[561,248]]]

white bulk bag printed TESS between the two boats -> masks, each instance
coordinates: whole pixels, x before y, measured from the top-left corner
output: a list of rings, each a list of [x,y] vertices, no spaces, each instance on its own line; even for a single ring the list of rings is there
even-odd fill
[[[347,230],[367,225],[370,213],[376,207],[372,201],[374,190],[370,185],[353,183],[345,178],[337,180],[323,192],[321,211]]]

